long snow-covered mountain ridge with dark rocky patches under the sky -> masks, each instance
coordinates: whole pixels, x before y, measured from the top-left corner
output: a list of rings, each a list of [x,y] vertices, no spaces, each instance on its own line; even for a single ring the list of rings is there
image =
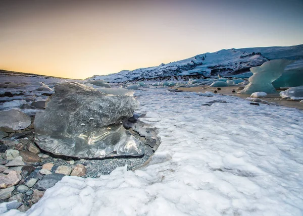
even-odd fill
[[[156,67],[139,68],[132,71],[87,78],[87,80],[103,79],[108,82],[142,81],[167,79],[188,79],[190,77],[212,77],[222,74],[230,76],[249,71],[249,68],[260,66],[273,59],[298,60],[294,66],[303,66],[303,44],[295,46],[273,46],[240,49],[222,49],[207,52],[185,60],[161,64]]]

